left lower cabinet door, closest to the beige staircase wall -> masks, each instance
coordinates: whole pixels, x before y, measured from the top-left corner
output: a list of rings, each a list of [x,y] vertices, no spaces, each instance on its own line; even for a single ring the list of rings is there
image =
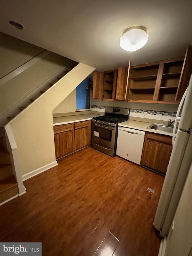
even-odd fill
[[[73,152],[74,149],[74,131],[61,132],[54,134],[55,156],[59,158],[63,155]]]

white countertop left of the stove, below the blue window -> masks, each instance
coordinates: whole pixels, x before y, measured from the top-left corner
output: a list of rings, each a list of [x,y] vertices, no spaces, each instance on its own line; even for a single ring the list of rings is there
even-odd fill
[[[75,115],[75,116],[54,117],[53,118],[53,126],[55,126],[55,125],[65,125],[65,124],[81,122],[81,121],[87,121],[87,120],[91,120],[95,116],[101,116],[101,115],[82,114],[82,115]]]

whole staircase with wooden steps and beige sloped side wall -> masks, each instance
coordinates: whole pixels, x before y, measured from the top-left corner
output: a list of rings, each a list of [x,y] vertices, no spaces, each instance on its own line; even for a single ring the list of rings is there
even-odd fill
[[[2,157],[0,157],[0,160],[7,160],[0,162],[2,169],[4,169],[1,176],[2,182],[0,183],[0,195],[2,194],[0,205],[1,202],[26,193],[23,180],[57,165],[52,111],[94,69],[83,63],[68,62],[65,67],[38,86],[34,90],[35,92],[31,92],[14,105],[14,109],[17,108],[17,113],[9,115],[10,111],[8,110],[4,114],[4,119],[0,118],[0,126],[4,126],[8,147],[7,151],[5,140],[2,140],[0,151]],[[68,74],[66,75],[66,73]],[[27,101],[30,102],[27,104]],[[23,102],[26,102],[26,104],[23,104]],[[7,123],[8,120],[10,122]],[[5,125],[5,123],[7,124]],[[0,137],[3,137],[1,128]],[[5,155],[9,155],[8,152],[10,152],[9,158],[8,156],[5,157]],[[9,169],[10,159],[13,164],[12,172]],[[7,169],[10,173],[6,171]],[[10,192],[9,195],[6,194],[3,197],[5,191]]]

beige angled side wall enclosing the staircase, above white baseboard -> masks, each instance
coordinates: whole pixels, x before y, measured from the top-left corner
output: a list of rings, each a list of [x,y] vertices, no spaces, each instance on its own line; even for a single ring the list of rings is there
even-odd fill
[[[52,111],[93,70],[90,66],[78,64],[10,121],[22,175],[55,161]]]

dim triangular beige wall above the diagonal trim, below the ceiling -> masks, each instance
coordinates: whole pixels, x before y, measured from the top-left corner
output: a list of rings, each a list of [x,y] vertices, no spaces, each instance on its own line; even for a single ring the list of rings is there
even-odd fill
[[[44,49],[0,32],[0,79]]]

